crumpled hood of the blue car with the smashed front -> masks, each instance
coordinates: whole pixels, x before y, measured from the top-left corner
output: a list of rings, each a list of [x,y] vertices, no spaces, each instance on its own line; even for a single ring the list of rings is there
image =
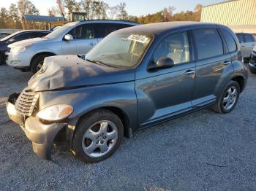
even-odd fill
[[[77,55],[56,55],[45,58],[41,71],[29,80],[34,91],[72,89],[135,80],[134,69],[120,69],[91,63]]]

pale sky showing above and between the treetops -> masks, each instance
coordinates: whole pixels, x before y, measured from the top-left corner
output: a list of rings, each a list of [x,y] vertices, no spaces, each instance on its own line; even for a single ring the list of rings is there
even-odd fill
[[[17,3],[18,0],[0,0],[0,7],[10,7],[11,3]],[[56,6],[56,0],[31,0],[39,9],[40,15],[47,15],[49,7]],[[80,1],[80,0],[79,0]],[[224,0],[103,0],[110,6],[126,2],[129,15],[146,15],[148,13],[158,12],[164,7],[174,6],[176,12],[193,10],[197,4],[215,4]]]

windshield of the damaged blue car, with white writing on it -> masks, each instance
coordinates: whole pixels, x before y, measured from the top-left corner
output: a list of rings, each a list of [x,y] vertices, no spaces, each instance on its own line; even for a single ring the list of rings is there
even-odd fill
[[[86,55],[86,60],[114,67],[132,67],[143,57],[151,39],[151,36],[132,31],[114,32],[99,42]]]

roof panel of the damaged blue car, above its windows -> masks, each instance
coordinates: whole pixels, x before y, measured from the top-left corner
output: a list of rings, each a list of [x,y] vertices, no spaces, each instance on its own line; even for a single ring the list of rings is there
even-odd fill
[[[200,23],[200,22],[187,22],[187,21],[180,21],[180,22],[165,22],[165,23],[151,23],[146,25],[140,26],[132,26],[129,28],[123,28],[120,31],[138,31],[138,32],[145,32],[151,34],[162,34],[167,31],[173,30],[182,30],[182,29],[192,29],[192,28],[200,28],[200,27],[207,27],[207,26],[216,26],[214,23]]]

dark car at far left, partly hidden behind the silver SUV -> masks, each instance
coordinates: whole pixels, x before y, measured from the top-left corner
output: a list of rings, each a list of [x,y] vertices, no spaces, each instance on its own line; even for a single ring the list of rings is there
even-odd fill
[[[7,55],[5,54],[10,50],[8,45],[14,42],[20,42],[25,39],[33,39],[37,37],[42,37],[50,34],[51,31],[43,31],[43,30],[25,30],[18,31],[9,36],[5,36],[3,39],[0,39],[0,64],[5,63],[7,59]]]

